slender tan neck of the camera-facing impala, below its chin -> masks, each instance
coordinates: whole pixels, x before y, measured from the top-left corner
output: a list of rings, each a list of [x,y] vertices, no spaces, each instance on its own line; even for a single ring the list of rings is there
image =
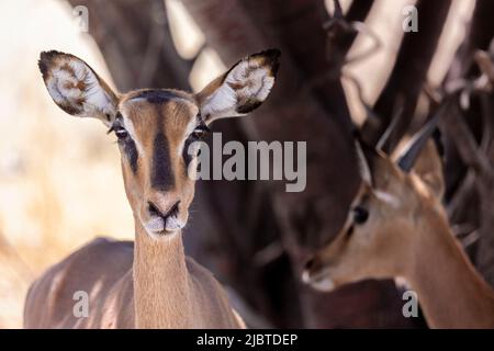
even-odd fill
[[[189,271],[182,235],[155,240],[136,223],[134,303],[136,328],[191,327]]]

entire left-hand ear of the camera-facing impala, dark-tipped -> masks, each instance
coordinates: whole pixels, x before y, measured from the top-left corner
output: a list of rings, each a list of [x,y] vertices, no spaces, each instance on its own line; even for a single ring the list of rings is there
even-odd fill
[[[38,61],[53,101],[68,114],[113,123],[117,98],[80,58],[59,52],[43,52]]]

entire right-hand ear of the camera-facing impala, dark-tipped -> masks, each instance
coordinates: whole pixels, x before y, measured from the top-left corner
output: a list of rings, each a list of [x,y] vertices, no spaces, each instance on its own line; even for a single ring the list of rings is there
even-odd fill
[[[274,84],[279,57],[277,49],[250,55],[207,84],[197,94],[204,121],[243,116],[257,109]]]

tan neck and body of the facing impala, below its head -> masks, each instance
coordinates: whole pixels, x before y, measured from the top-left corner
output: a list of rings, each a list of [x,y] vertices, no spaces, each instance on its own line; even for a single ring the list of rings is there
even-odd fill
[[[49,269],[30,288],[24,327],[245,327],[214,276],[184,256],[180,235],[136,248],[133,265],[132,242],[100,238]],[[72,314],[77,291],[90,296],[89,318]]]

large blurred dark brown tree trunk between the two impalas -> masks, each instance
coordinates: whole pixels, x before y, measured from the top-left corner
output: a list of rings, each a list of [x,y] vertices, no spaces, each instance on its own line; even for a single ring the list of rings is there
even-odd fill
[[[390,282],[362,282],[329,295],[300,285],[301,264],[308,252],[337,233],[359,181],[351,123],[338,77],[306,88],[307,81],[328,69],[324,59],[326,35],[322,29],[321,4],[315,1],[183,2],[203,30],[207,44],[227,65],[267,47],[282,52],[282,68],[269,102],[249,120],[237,121],[246,131],[245,137],[307,141],[307,188],[303,193],[285,193],[282,184],[262,182],[227,186],[209,182],[204,186],[214,199],[209,203],[215,203],[218,220],[227,224],[222,228],[221,241],[245,252],[240,253],[242,259],[225,259],[233,262],[229,269],[244,278],[244,288],[239,291],[249,296],[245,276],[252,279],[248,287],[262,291],[250,294],[256,296],[250,301],[280,327],[407,325],[400,313],[398,294]],[[348,48],[346,44],[343,49]],[[236,127],[227,121],[215,129],[229,137]],[[338,165],[338,168],[322,165]],[[238,201],[233,201],[236,195]],[[274,254],[261,260],[263,267],[252,270],[256,268],[252,258],[263,257],[266,252]],[[243,265],[235,267],[236,261]]]

